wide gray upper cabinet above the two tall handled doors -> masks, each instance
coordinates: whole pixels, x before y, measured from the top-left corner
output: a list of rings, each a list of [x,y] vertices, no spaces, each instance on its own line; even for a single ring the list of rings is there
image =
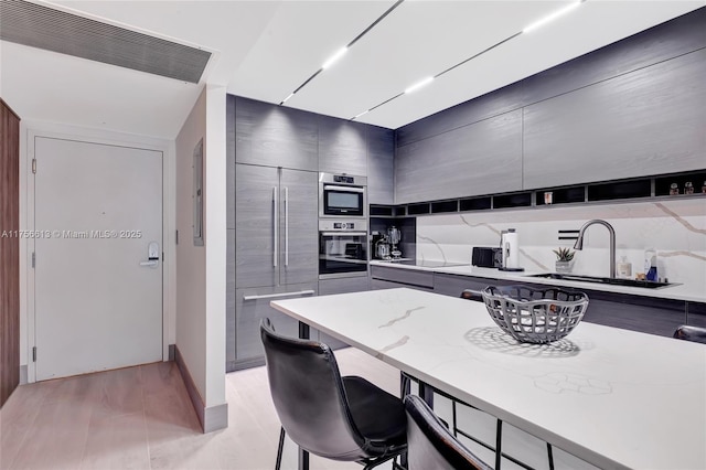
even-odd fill
[[[235,97],[235,161],[317,171],[317,115]]]

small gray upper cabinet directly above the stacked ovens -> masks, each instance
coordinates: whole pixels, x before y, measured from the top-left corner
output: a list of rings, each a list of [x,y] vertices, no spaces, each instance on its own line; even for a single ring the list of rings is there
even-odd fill
[[[319,170],[367,177],[366,125],[318,116]]]

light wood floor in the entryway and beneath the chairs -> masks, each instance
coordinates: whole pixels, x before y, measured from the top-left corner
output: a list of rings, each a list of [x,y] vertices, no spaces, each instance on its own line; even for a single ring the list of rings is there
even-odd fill
[[[398,395],[397,370],[353,348],[335,354],[342,375]],[[22,385],[0,412],[0,469],[274,469],[279,420],[265,368],[227,374],[226,399],[228,428],[203,435],[174,363]],[[361,467],[312,456],[311,469]]]

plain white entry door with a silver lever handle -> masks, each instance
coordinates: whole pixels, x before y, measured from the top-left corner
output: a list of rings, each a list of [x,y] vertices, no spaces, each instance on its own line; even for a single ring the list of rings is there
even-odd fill
[[[36,137],[34,153],[36,380],[160,361],[162,152]]]

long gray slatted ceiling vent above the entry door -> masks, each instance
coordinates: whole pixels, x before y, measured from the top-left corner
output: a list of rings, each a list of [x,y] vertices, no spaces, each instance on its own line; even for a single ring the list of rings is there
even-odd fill
[[[199,83],[211,53],[22,0],[0,0],[0,40]]]

